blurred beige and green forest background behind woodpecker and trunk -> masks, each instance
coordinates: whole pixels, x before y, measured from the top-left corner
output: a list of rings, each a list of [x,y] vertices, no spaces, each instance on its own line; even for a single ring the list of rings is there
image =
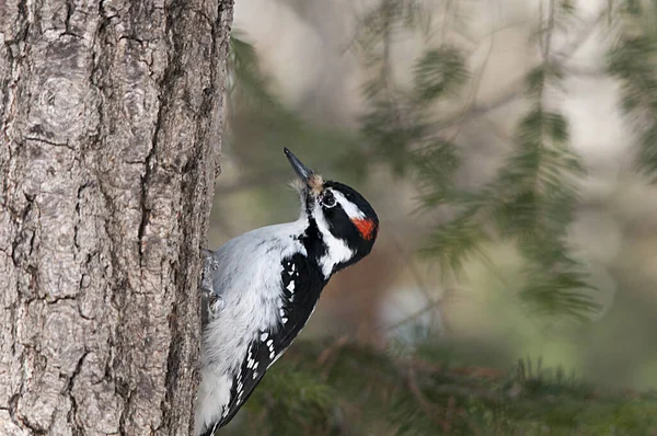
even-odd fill
[[[284,146],[381,230],[227,432],[657,432],[656,20],[237,1],[210,246],[298,217]]]

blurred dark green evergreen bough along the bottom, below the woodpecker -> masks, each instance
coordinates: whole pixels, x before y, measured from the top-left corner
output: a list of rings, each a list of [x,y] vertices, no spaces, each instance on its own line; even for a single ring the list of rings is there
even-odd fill
[[[654,394],[595,387],[561,367],[545,368],[540,358],[521,359],[508,371],[453,366],[453,351],[426,346],[431,353],[397,358],[347,343],[324,371],[318,357],[326,345],[297,342],[246,403],[251,416],[226,433],[556,436],[657,428]]]

